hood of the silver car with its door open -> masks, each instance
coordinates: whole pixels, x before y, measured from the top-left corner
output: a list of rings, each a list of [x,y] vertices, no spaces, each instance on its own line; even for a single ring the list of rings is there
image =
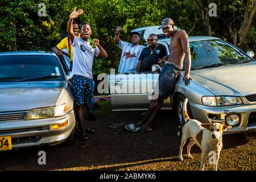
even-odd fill
[[[191,71],[191,77],[216,96],[247,96],[256,93],[256,63]]]

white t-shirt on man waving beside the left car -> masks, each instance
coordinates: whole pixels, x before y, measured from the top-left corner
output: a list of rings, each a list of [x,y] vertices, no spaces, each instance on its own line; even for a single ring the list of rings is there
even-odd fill
[[[73,68],[71,77],[74,75],[84,76],[86,78],[93,78],[92,64],[94,55],[100,54],[100,49],[92,48],[89,42],[86,42],[77,36],[72,43],[73,46]]]

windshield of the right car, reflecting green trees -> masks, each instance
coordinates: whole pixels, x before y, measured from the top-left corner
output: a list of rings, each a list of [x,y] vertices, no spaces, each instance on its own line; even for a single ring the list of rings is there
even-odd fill
[[[253,61],[240,49],[223,40],[203,40],[190,43],[191,70]],[[183,64],[185,69],[185,60]]]

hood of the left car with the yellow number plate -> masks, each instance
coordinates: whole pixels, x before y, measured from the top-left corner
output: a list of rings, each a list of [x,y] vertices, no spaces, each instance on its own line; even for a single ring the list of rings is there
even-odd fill
[[[0,112],[55,106],[62,81],[0,82]]]

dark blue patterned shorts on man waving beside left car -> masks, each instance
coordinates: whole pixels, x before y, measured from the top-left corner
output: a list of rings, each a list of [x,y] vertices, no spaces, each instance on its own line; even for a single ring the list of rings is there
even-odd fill
[[[84,103],[92,104],[93,97],[93,79],[74,75],[72,78],[73,95],[77,106]]]

